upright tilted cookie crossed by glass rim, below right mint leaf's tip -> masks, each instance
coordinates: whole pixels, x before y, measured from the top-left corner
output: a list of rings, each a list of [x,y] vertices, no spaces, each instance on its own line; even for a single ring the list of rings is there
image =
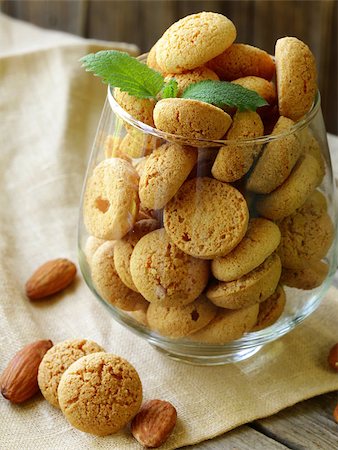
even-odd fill
[[[254,158],[260,152],[259,144],[244,143],[240,140],[254,139],[262,136],[264,126],[259,115],[254,111],[237,112],[226,139],[236,141],[222,146],[212,166],[213,176],[220,181],[233,182],[242,178],[252,166]]]

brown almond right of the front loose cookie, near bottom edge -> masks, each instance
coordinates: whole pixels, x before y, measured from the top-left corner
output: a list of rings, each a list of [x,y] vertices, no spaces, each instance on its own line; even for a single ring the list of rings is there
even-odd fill
[[[134,438],[143,446],[162,445],[175,427],[177,412],[164,400],[149,400],[142,405],[131,423]]]

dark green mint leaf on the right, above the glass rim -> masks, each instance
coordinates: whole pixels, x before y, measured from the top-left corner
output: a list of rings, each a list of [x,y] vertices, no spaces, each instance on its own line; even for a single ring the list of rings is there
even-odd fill
[[[257,92],[227,81],[205,80],[190,84],[181,97],[211,103],[219,108],[225,105],[235,107],[239,111],[256,111],[268,104]]]

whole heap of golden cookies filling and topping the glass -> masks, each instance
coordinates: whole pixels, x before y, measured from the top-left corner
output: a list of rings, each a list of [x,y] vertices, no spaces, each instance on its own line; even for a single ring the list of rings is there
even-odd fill
[[[309,124],[296,125],[315,101],[313,55],[293,37],[277,41],[275,59],[235,39],[226,17],[194,14],[163,34],[147,64],[175,78],[179,95],[190,83],[225,80],[268,105],[223,110],[115,89],[120,106],[167,138],[130,123],[108,135],[83,200],[98,294],[160,335],[211,344],[272,325],[283,284],[319,286],[334,237],[317,189],[321,143]]]

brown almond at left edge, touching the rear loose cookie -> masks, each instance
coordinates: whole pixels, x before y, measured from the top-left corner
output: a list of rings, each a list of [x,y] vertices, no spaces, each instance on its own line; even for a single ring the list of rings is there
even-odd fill
[[[1,394],[12,403],[22,403],[39,391],[38,369],[53,342],[32,342],[10,360],[0,377]]]

